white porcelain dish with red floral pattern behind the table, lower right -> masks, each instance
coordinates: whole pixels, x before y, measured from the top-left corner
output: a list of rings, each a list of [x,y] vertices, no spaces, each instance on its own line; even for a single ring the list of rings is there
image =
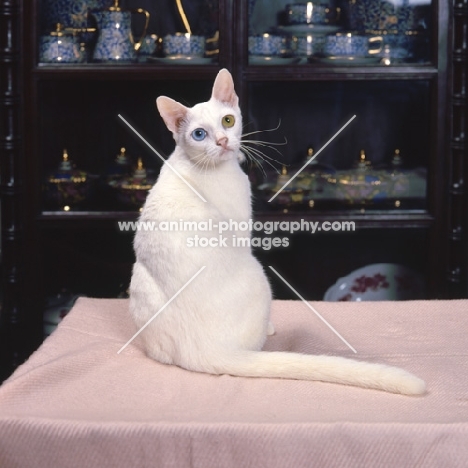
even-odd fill
[[[324,301],[403,301],[424,298],[424,281],[413,270],[394,263],[376,263],[339,278]]]

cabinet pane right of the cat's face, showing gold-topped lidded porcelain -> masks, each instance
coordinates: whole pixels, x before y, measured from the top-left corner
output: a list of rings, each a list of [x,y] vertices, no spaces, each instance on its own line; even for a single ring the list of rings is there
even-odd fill
[[[425,210],[429,97],[425,80],[251,83],[248,121],[269,142],[246,151],[257,209]]]

